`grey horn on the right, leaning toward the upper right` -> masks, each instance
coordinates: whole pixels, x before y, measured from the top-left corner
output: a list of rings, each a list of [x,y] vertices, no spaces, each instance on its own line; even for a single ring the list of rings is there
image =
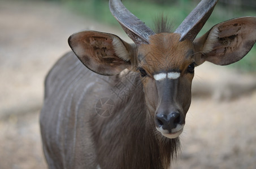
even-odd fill
[[[194,41],[197,34],[209,19],[211,12],[218,0],[202,0],[196,8],[184,19],[180,26],[175,30],[175,33],[181,35],[180,41],[188,39]]]

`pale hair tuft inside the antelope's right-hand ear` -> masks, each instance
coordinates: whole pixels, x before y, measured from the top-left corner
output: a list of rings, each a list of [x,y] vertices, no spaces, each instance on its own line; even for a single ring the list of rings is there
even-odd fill
[[[212,28],[212,30],[210,31],[206,39],[205,45],[203,45],[202,53],[207,54],[211,52],[213,50],[214,43],[218,42],[218,38],[219,38],[218,28]]]

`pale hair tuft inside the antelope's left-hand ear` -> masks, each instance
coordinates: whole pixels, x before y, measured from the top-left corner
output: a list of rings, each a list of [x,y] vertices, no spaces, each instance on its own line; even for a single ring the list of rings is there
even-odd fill
[[[129,53],[124,46],[124,43],[119,39],[114,37],[112,41],[112,45],[114,47],[114,51],[118,57],[123,59],[124,61],[129,61],[131,58],[129,57]]]

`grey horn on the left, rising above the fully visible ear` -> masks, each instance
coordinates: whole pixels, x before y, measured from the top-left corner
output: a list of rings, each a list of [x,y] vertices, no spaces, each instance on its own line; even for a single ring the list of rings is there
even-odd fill
[[[150,35],[155,34],[153,30],[128,11],[120,0],[110,0],[109,8],[112,15],[118,20],[125,33],[134,43],[137,45],[149,43]]]

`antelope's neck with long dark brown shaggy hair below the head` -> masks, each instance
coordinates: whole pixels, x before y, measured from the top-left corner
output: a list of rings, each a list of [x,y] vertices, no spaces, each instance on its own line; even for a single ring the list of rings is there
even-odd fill
[[[138,78],[134,82],[140,83]],[[168,168],[171,159],[176,157],[179,139],[168,139],[156,130],[142,91],[140,83],[133,94],[125,98],[127,106],[119,105],[118,112],[110,118],[99,119],[101,135],[96,140],[102,168]],[[106,166],[107,161],[113,161],[112,166]]]

